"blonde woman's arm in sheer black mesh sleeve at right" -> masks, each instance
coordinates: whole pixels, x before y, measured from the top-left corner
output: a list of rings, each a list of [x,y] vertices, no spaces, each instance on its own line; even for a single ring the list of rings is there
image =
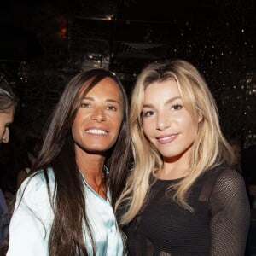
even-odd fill
[[[244,255],[250,206],[241,175],[231,169],[218,176],[210,198],[211,255]]]

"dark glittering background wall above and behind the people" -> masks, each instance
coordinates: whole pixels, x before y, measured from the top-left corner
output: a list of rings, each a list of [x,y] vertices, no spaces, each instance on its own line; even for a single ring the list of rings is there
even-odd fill
[[[81,70],[109,68],[130,94],[146,63],[181,58],[207,80],[225,136],[247,148],[256,140],[255,31],[254,0],[5,1],[0,75],[20,97],[15,136],[40,133]]]

